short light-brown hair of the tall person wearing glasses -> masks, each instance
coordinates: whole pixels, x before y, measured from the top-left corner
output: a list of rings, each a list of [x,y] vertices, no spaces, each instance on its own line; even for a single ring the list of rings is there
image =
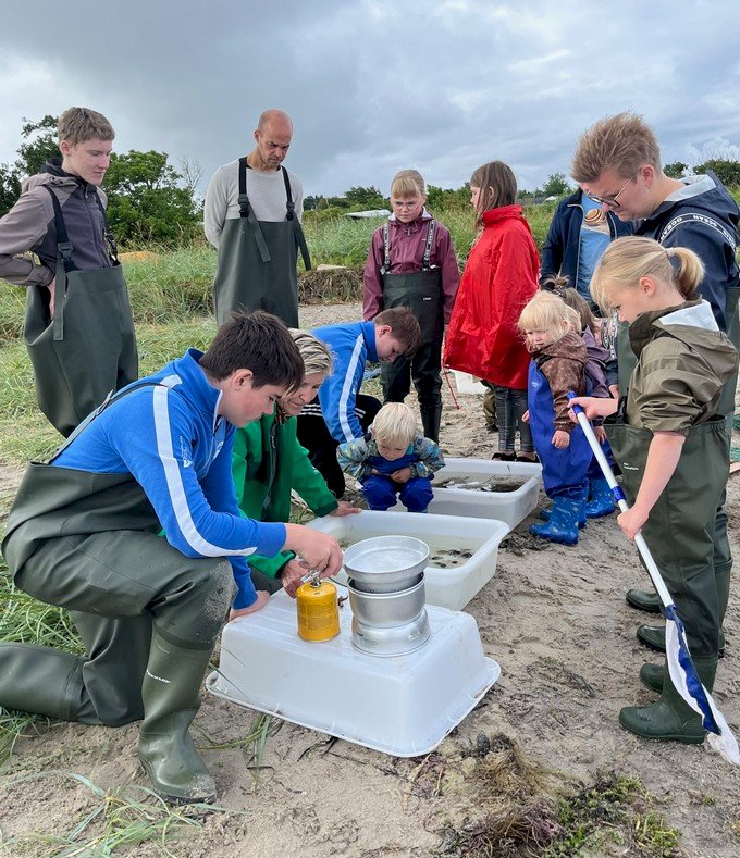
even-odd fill
[[[632,178],[644,164],[661,171],[661,147],[642,116],[626,111],[606,116],[581,135],[570,175],[576,182],[596,182],[605,170]]]

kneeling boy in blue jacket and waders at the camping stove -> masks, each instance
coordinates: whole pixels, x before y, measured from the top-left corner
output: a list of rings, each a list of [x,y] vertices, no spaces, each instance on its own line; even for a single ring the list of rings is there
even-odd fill
[[[286,548],[322,574],[342,563],[333,538],[245,519],[236,505],[235,427],[271,413],[303,375],[280,320],[234,314],[205,355],[189,349],[109,397],[48,463],[29,464],[2,551],[20,589],[71,610],[87,657],[0,644],[0,706],[86,724],[143,719],[138,755],[157,792],[213,800],[188,728],[230,605],[236,619],[267,604],[247,557]]]

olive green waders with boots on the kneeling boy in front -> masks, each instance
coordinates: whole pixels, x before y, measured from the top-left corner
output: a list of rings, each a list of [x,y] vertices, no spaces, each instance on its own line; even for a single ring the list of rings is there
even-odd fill
[[[188,558],[130,474],[32,463],[2,550],[25,593],[71,610],[87,657],[0,644],[0,705],[85,723],[144,718],[155,788],[198,801],[215,787],[188,733],[234,588],[223,558]]]

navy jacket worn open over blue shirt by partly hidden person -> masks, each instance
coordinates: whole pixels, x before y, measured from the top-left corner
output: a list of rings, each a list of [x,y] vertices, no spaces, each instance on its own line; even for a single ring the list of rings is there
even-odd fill
[[[540,283],[545,277],[562,274],[568,277],[569,285],[576,288],[578,284],[578,262],[581,249],[581,224],[583,223],[583,208],[581,206],[582,190],[577,190],[555,209],[555,214],[547,231],[547,237],[542,248],[542,264],[540,266]],[[612,240],[622,235],[632,235],[632,224],[624,223],[613,212],[606,213]]]

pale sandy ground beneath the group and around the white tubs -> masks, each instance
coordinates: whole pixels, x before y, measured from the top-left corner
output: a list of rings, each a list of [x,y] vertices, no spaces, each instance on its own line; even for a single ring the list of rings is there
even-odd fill
[[[312,307],[305,326],[351,320],[359,307]],[[495,437],[484,431],[480,399],[460,396],[456,410],[444,390],[442,447],[454,456],[489,458]],[[0,486],[1,488],[1,486]],[[740,511],[740,476],[729,483],[731,525]],[[541,501],[544,498],[541,498]],[[681,831],[689,856],[737,856],[740,769],[707,747],[649,743],[621,730],[619,708],[646,704],[638,670],[649,660],[634,638],[646,615],[630,609],[625,593],[645,584],[614,517],[592,521],[574,548],[538,543],[522,522],[502,544],[495,576],[467,606],[483,649],[502,677],[440,748],[441,760],[459,760],[479,734],[505,734],[527,759],[575,783],[593,783],[600,771],[636,775],[656,796],[656,810]],[[732,537],[736,552],[737,530]],[[740,734],[740,623],[737,579],[726,622],[727,656],[715,698]],[[219,744],[245,735],[254,713],[205,696],[197,725]],[[239,747],[206,750],[220,803],[244,816],[211,815],[202,831],[170,846],[177,856],[297,856],[351,858],[421,856],[443,846],[451,821],[472,812],[465,786],[422,788],[421,760],[384,756],[275,721],[261,769]],[[75,772],[103,788],[146,783],[136,760],[136,725],[119,730],[52,724],[22,739],[2,772],[4,837],[70,831],[95,805]],[[202,735],[199,742],[205,743]],[[30,775],[33,780],[25,776]],[[20,782],[18,782],[18,779]],[[14,783],[10,783],[13,781]],[[471,805],[472,798],[472,805]],[[45,853],[39,846],[38,854]],[[123,854],[123,853],[122,853]],[[155,855],[148,845],[134,855]],[[439,854],[439,853],[437,853]],[[604,854],[627,854],[620,848]],[[629,853],[634,855],[637,853]]]

